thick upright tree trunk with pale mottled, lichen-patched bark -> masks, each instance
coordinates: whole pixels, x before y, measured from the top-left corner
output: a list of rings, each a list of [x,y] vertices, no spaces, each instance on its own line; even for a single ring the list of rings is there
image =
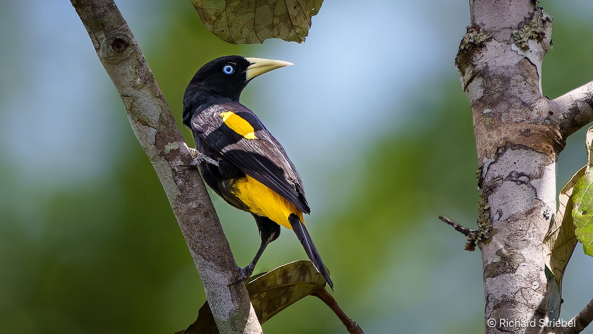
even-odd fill
[[[487,333],[540,333],[547,279],[542,243],[556,212],[565,139],[541,93],[551,19],[532,0],[470,1],[455,59],[470,98],[480,163],[479,229]],[[535,320],[537,326],[521,326]]]

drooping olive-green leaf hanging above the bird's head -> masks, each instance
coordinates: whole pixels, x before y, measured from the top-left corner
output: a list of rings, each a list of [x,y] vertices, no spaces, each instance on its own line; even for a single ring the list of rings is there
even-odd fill
[[[232,44],[304,43],[323,0],[192,0],[206,29]]]

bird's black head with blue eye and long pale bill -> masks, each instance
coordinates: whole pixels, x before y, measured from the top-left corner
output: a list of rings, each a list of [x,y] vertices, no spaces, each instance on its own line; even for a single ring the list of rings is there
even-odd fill
[[[257,75],[292,65],[289,62],[243,56],[224,56],[203,65],[183,96],[183,123],[189,126],[193,112],[209,102],[238,102],[247,83]]]

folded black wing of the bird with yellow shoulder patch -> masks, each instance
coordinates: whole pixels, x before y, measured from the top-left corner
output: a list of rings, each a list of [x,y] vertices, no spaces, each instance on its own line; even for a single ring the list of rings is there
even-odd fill
[[[193,114],[191,125],[203,143],[302,212],[311,212],[297,169],[253,112],[236,102],[200,109]]]

